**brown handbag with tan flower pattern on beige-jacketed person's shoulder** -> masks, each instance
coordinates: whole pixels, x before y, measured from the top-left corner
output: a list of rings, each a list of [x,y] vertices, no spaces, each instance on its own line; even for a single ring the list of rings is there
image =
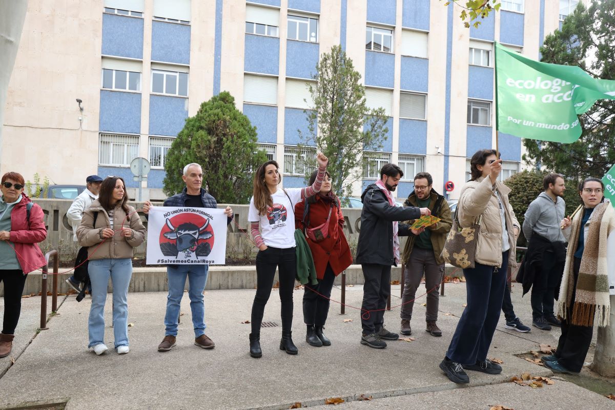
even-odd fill
[[[475,266],[476,258],[476,243],[478,232],[480,232],[480,224],[483,222],[483,215],[478,216],[478,221],[474,225],[462,228],[457,218],[459,205],[455,210],[453,218],[453,226],[448,232],[444,248],[442,250],[442,259],[453,266],[461,269],[472,269]]]

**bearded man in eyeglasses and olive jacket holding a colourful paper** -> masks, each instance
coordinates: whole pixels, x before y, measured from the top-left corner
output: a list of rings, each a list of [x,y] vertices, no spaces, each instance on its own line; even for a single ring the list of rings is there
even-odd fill
[[[416,290],[425,275],[427,290],[427,312],[425,315],[426,331],[432,336],[442,336],[442,331],[436,324],[438,320],[438,294],[440,282],[444,276],[444,259],[440,254],[446,242],[446,235],[451,230],[453,219],[451,209],[446,199],[432,187],[432,176],[427,172],[419,172],[415,176],[415,189],[403,203],[404,207],[429,208],[431,215],[440,218],[438,223],[421,229],[411,229],[403,249],[402,261],[405,264],[403,272],[405,282],[402,294],[402,325],[401,334],[412,334],[410,320]],[[411,221],[408,221],[410,223]]]

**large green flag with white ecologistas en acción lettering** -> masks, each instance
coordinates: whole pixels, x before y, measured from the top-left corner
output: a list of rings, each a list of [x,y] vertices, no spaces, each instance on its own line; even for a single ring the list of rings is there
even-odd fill
[[[577,114],[603,98],[615,100],[615,81],[595,79],[577,66],[534,61],[496,42],[499,131],[572,143],[581,136]]]

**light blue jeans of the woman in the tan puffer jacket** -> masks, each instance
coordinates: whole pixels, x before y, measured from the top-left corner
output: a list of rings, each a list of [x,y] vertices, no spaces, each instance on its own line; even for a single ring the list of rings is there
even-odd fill
[[[105,342],[105,301],[107,285],[113,286],[113,336],[115,347],[128,345],[128,285],[132,277],[132,261],[125,259],[94,259],[87,272],[92,283],[92,306],[87,328],[89,347]]]

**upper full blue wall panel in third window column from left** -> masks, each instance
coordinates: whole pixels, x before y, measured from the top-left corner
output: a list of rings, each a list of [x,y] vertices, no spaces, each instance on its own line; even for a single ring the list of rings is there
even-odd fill
[[[245,35],[244,71],[275,74],[279,71],[280,39],[277,37]]]

